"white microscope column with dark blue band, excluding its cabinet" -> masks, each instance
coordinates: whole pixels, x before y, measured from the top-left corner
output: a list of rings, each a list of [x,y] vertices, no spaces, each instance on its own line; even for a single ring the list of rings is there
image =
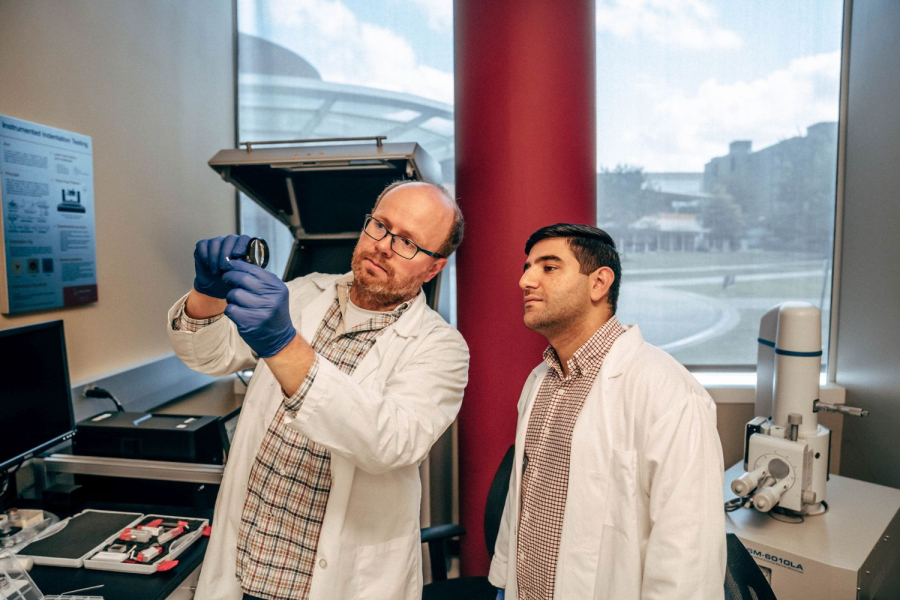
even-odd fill
[[[825,510],[831,431],[818,412],[865,417],[868,411],[819,400],[822,315],[805,302],[785,302],[759,327],[756,414],[744,432],[744,474],[731,482],[742,505],[797,514]]]

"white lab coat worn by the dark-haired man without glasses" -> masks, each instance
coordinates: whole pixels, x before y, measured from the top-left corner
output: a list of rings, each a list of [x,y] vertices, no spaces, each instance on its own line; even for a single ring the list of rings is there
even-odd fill
[[[506,600],[518,598],[525,433],[547,371],[539,365],[519,398],[515,463],[490,571]],[[637,326],[628,327],[575,423],[554,598],[722,598],[723,474],[712,399]]]

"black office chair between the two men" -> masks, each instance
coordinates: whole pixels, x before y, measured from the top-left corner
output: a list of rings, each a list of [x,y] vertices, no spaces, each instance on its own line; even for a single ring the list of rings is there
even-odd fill
[[[500,519],[509,491],[509,475],[512,471],[515,446],[510,446],[494,474],[484,508],[484,542],[488,554],[494,557],[494,545],[500,530]],[[422,542],[428,544],[431,557],[431,578],[422,590],[422,600],[494,600],[497,590],[487,577],[460,577],[447,579],[447,541],[465,535],[464,527],[455,524],[435,525],[422,529]],[[752,559],[751,559],[752,560]]]

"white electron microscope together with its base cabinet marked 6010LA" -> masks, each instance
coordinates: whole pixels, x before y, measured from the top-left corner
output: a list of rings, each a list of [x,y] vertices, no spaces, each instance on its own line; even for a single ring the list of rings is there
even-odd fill
[[[737,495],[726,530],[779,600],[900,598],[900,490],[828,474],[831,431],[819,413],[867,412],[820,400],[821,321],[815,306],[786,302],[760,322],[759,416],[746,425],[743,462],[725,472],[725,498]]]

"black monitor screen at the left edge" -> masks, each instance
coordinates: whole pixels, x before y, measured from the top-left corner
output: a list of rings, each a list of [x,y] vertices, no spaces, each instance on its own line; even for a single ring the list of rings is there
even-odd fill
[[[62,321],[0,331],[0,470],[75,431]]]

